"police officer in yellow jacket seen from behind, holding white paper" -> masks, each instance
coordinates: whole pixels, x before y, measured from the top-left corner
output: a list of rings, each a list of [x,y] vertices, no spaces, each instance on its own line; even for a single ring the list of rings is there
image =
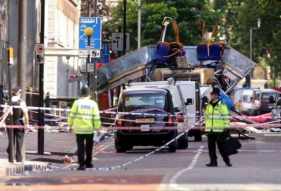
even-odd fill
[[[93,168],[92,150],[94,129],[100,133],[100,113],[94,100],[91,100],[91,90],[89,87],[83,87],[81,90],[83,99],[75,100],[71,112],[69,113],[68,125],[72,127],[74,122],[74,133],[76,134],[78,163],[77,170]],[[72,128],[70,128],[71,131]],[[86,139],[86,161],[84,156],[84,140]]]

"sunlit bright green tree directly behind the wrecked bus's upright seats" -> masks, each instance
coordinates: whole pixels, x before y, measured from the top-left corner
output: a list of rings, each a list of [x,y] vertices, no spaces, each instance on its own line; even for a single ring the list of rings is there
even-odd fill
[[[127,0],[126,31],[131,33],[131,50],[137,48],[137,13],[138,1]],[[123,25],[123,1],[110,9],[110,31],[116,32]],[[206,20],[205,32],[211,32],[219,14],[207,0],[143,0],[141,5],[141,46],[155,45],[161,35],[164,17],[172,17],[178,24],[180,42],[184,45],[196,45],[202,41],[202,25]],[[218,31],[216,31],[217,33]],[[175,41],[172,25],[167,29],[166,42]]]

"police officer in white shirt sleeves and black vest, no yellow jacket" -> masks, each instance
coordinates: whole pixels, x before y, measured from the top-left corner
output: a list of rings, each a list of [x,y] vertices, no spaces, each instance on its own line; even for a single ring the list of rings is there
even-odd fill
[[[26,107],[25,101],[21,99],[21,92],[22,88],[20,86],[17,86],[15,88],[11,89],[12,92],[12,105],[19,105],[21,108],[13,108],[13,125],[29,125],[28,124],[28,109]],[[7,107],[3,109],[3,115],[7,112]],[[13,139],[15,140],[16,138],[16,143],[17,143],[17,154],[16,154],[16,159],[17,162],[23,162],[25,161],[25,146],[24,146],[24,133],[25,133],[25,128],[13,128],[13,133],[14,137]],[[9,131],[8,131],[8,137],[9,137]],[[9,137],[10,139],[10,137]],[[7,153],[9,155],[9,162],[12,162],[10,160],[10,141],[9,145],[7,148]]]

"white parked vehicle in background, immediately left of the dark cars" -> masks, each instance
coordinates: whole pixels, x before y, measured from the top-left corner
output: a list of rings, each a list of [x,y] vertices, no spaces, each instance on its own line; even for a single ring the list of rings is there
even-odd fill
[[[245,89],[242,91],[240,100],[240,114],[252,115],[252,102],[251,97],[253,95],[253,89]]]

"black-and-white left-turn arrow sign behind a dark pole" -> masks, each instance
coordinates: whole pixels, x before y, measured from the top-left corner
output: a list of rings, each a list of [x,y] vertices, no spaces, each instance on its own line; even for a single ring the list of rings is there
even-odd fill
[[[111,50],[123,51],[123,32],[111,33]],[[126,51],[130,51],[130,32],[126,32]]]

